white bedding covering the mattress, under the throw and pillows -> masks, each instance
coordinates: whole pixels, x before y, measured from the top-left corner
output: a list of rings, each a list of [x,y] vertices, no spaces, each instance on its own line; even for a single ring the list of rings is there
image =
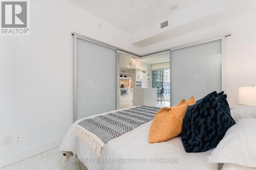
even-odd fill
[[[105,114],[105,113],[102,113]],[[96,115],[94,115],[96,116]],[[94,117],[90,116],[90,117]],[[84,162],[89,170],[125,170],[125,169],[179,169],[179,170],[217,170],[218,163],[209,163],[207,156],[210,151],[203,153],[186,153],[181,137],[176,137],[165,142],[148,143],[148,131],[151,122],[145,123],[130,132],[111,139],[101,152],[101,158],[105,158],[105,162],[114,161],[113,163],[102,163],[97,159],[97,155],[89,147],[89,145],[82,143],[74,136],[74,126],[82,119],[77,120],[67,135],[63,139],[59,151],[73,152],[78,158],[86,158],[92,163]],[[92,159],[93,158],[93,159]],[[117,163],[115,158],[118,159]],[[125,163],[124,161],[137,161],[136,158],[143,158],[142,161],[148,163]],[[162,158],[162,160],[179,159],[179,163],[152,163],[152,159]],[[96,160],[97,159],[97,160]],[[83,159],[82,159],[83,160]],[[96,163],[95,163],[96,160]],[[102,161],[102,159],[101,159]],[[121,163],[120,163],[121,161]]]

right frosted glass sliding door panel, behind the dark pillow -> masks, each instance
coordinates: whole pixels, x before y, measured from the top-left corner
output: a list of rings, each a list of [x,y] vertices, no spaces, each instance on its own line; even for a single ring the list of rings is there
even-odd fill
[[[194,95],[196,100],[222,90],[221,40],[173,50],[172,105]]]

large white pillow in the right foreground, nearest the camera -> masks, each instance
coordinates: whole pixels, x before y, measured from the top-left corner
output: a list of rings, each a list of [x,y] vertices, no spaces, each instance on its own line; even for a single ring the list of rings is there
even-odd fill
[[[256,118],[238,119],[208,156],[212,163],[256,167]]]

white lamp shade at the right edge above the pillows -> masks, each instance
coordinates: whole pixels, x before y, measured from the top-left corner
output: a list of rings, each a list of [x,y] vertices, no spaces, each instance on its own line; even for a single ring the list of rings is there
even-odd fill
[[[256,106],[256,87],[239,87],[238,103],[241,105]]]

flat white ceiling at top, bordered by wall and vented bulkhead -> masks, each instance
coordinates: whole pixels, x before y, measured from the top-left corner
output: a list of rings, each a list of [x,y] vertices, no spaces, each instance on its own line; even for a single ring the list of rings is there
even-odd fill
[[[164,21],[175,11],[202,0],[69,0],[127,33],[135,33]],[[176,6],[174,10],[170,10]],[[161,21],[161,22],[162,22]],[[100,24],[100,23],[99,23]]]

